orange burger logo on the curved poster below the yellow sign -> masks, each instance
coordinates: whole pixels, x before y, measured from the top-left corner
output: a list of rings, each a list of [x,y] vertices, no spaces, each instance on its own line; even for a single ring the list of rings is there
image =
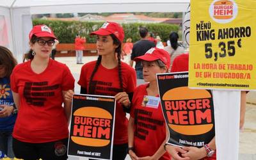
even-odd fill
[[[168,90],[163,95],[168,126],[190,136],[211,131],[214,127],[211,98],[207,90],[191,90],[188,86]]]

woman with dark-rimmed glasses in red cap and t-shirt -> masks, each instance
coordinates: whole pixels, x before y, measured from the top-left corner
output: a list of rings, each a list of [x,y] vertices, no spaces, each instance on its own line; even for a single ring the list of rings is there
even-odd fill
[[[71,102],[64,99],[74,89],[68,67],[50,58],[56,36],[48,26],[29,33],[29,61],[11,75],[13,100],[19,113],[13,129],[13,152],[19,159],[67,159]]]

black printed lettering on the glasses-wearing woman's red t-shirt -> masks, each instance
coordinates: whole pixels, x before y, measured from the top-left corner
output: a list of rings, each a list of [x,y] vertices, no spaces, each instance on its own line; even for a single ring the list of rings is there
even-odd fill
[[[48,86],[47,81],[26,82],[23,94],[28,104],[33,106],[44,106],[47,97],[54,96],[54,91],[59,87],[60,84]]]

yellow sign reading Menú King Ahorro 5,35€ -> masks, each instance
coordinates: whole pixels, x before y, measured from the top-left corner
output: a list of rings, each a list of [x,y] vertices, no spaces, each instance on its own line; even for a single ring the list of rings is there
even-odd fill
[[[256,90],[255,0],[192,0],[189,87]]]

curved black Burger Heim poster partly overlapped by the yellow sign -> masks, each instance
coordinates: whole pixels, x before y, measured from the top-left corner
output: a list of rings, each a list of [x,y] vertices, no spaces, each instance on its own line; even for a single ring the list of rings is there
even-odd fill
[[[188,72],[157,74],[168,143],[203,147],[215,136],[214,108],[210,90],[188,88]]]

